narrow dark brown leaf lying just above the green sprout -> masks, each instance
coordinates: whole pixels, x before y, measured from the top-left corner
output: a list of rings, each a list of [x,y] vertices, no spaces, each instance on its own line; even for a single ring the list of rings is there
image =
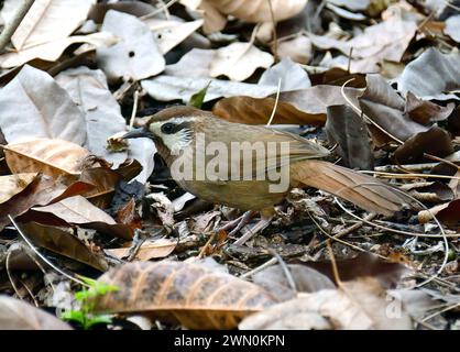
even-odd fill
[[[21,223],[20,228],[37,246],[65,255],[101,272],[109,267],[102,255],[94,253],[66,228],[50,227],[37,222]]]

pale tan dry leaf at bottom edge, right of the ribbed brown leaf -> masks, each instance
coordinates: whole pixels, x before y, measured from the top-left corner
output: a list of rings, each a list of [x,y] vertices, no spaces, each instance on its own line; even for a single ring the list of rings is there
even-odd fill
[[[302,294],[245,318],[239,328],[308,330],[410,330],[404,310],[391,311],[386,292],[374,278],[342,283],[339,289]]]

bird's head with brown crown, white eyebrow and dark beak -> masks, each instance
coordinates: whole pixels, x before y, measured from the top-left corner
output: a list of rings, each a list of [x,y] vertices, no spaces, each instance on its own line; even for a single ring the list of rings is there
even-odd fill
[[[147,138],[155,142],[158,150],[166,148],[171,154],[176,154],[193,143],[197,129],[209,114],[191,107],[167,108],[150,117],[144,127],[122,138]]]

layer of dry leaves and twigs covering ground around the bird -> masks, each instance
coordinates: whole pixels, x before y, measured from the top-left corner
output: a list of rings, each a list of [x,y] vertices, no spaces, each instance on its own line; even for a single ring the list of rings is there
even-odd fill
[[[166,2],[35,1],[2,47],[1,328],[70,329],[44,309],[70,309],[78,277],[117,286],[95,315],[150,328],[458,326],[459,15],[436,1]],[[273,114],[419,207],[381,217],[296,189],[236,245],[215,230],[238,209],[184,193],[152,141],[117,144],[175,103]]]

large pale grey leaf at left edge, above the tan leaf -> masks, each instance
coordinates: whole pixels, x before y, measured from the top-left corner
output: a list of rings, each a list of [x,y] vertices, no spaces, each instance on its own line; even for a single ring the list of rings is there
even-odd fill
[[[0,110],[9,143],[26,138],[86,141],[85,114],[48,74],[29,65],[0,90]]]

